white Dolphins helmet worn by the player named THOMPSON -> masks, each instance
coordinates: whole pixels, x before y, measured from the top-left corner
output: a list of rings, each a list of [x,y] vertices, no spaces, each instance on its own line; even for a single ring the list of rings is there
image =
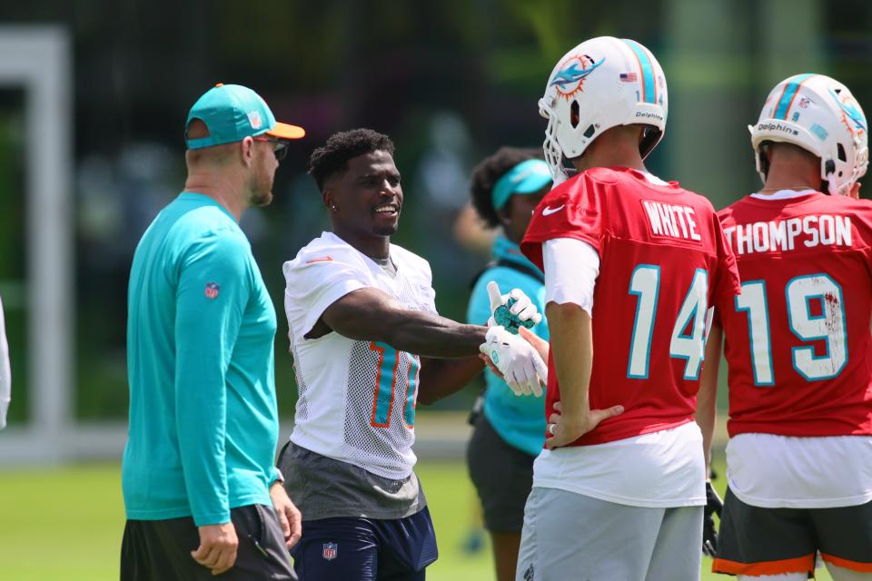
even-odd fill
[[[822,186],[846,195],[866,173],[866,115],[844,84],[823,74],[797,74],[777,84],[757,125],[748,125],[760,179],[766,182],[765,142],[793,143],[820,158]]]

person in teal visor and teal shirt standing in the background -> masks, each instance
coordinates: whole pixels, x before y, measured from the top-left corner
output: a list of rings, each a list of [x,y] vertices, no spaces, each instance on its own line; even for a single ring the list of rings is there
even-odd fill
[[[501,232],[493,243],[493,261],[474,283],[467,310],[470,323],[482,324],[490,316],[490,281],[500,289],[520,289],[538,309],[545,308],[543,275],[519,249],[533,210],[551,187],[548,164],[540,154],[503,147],[472,174],[472,205],[489,228]],[[548,340],[544,319],[532,330]],[[545,440],[544,398],[517,397],[490,369],[485,369],[484,379],[483,408],[473,414],[467,462],[490,532],[497,579],[506,581],[515,578],[533,460]]]

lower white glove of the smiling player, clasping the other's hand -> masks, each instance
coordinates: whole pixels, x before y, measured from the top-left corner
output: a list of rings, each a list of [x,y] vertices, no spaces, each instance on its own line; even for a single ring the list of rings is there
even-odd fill
[[[479,350],[500,369],[516,396],[541,397],[542,383],[548,383],[548,366],[530,343],[497,325],[488,329]]]

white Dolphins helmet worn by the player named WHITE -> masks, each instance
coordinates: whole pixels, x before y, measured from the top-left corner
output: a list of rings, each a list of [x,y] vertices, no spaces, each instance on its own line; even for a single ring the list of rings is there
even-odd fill
[[[650,51],[629,39],[600,36],[560,59],[539,100],[548,119],[545,160],[554,184],[569,175],[563,159],[584,153],[601,133],[618,125],[650,125],[639,153],[644,159],[666,130],[666,77]]]

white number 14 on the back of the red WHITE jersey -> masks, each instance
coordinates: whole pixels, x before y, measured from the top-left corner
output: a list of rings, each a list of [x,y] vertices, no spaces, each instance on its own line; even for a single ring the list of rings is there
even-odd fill
[[[648,379],[651,340],[657,320],[660,296],[660,267],[639,264],[629,278],[629,294],[636,297],[636,316],[629,343],[629,379]],[[681,303],[679,316],[672,327],[669,357],[685,359],[684,379],[699,379],[705,354],[706,312],[708,310],[708,271],[697,269],[690,281],[688,294]]]

